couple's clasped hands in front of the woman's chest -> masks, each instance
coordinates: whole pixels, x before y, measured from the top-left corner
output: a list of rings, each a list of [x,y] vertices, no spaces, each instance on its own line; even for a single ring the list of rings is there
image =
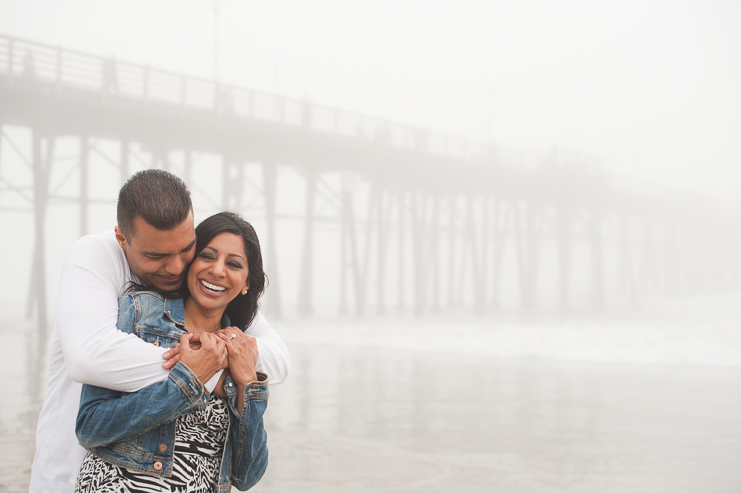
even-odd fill
[[[227,327],[214,333],[183,334],[180,343],[162,355],[166,359],[162,366],[171,369],[181,361],[204,383],[224,369],[214,392],[225,397],[223,383],[228,373],[239,389],[257,380],[257,354],[254,337],[237,327]]]

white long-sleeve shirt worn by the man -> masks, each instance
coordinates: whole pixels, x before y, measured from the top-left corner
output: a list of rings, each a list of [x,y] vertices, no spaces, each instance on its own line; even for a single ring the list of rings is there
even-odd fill
[[[72,492],[85,457],[75,436],[82,384],[135,392],[163,381],[164,348],[116,329],[118,298],[131,273],[114,233],[85,236],[65,259],[49,349],[49,390],[36,428],[30,493]],[[257,338],[257,370],[271,385],[286,379],[288,349],[258,313],[246,331]]]

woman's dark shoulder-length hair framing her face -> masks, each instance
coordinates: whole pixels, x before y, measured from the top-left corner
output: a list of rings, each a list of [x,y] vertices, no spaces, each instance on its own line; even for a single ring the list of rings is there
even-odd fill
[[[267,285],[267,276],[262,267],[262,253],[260,252],[260,240],[257,239],[255,228],[242,219],[235,212],[219,212],[208,219],[203,220],[196,227],[196,257],[221,233],[232,233],[242,238],[244,250],[247,254],[247,265],[249,267],[248,280],[250,288],[247,294],[241,292],[226,306],[226,314],[231,319],[231,324],[244,331],[257,315],[258,301]],[[187,292],[187,286],[183,284]],[[186,294],[187,296],[187,294]]]

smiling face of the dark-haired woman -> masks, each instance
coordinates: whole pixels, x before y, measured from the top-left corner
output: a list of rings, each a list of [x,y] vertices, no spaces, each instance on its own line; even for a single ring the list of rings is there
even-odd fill
[[[241,236],[219,233],[196,255],[188,270],[188,291],[207,310],[224,310],[249,287],[249,266]]]

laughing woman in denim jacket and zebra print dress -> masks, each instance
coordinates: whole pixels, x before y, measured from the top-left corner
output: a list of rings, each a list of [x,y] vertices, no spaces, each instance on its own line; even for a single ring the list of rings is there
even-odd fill
[[[180,341],[181,359],[166,381],[133,394],[83,386],[76,432],[88,454],[77,492],[244,491],[265,472],[267,376],[243,333],[265,288],[260,243],[229,212],[199,224],[196,237],[184,298],[138,290],[119,300],[119,330],[159,346]],[[225,364],[208,394],[201,382]]]

